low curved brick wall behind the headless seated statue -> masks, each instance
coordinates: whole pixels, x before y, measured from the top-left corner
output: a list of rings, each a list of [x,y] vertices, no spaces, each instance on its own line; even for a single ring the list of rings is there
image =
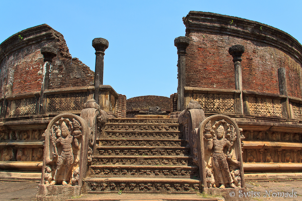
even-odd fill
[[[133,118],[139,111],[148,111],[149,107],[160,107],[171,112],[170,98],[165,96],[137,96],[127,99],[127,118]]]

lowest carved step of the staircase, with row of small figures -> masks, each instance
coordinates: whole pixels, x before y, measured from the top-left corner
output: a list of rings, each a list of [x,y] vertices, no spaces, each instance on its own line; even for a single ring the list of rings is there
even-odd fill
[[[197,193],[201,181],[190,178],[154,177],[89,177],[85,178],[87,193]]]

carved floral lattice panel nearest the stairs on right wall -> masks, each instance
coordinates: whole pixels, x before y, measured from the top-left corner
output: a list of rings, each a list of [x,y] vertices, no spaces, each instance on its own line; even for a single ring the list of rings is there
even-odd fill
[[[234,96],[229,94],[192,93],[205,112],[234,113]]]

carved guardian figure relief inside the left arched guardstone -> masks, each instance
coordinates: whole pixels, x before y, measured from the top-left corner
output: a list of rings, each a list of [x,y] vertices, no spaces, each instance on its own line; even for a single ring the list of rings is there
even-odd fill
[[[47,168],[45,168],[44,176],[47,177],[45,184],[68,185],[71,177],[75,176],[75,173],[72,173],[73,167],[79,164],[82,126],[74,118],[62,117],[52,125],[49,137],[48,155],[50,158],[47,161]]]

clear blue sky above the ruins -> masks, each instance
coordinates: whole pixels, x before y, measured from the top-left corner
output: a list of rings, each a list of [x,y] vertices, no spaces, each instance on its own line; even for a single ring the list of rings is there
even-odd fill
[[[174,39],[185,36],[189,11],[214,12],[276,27],[302,43],[302,1],[0,1],[0,43],[48,24],[63,34],[72,57],[94,71],[92,39],[105,38],[104,84],[127,98],[177,92]]]

